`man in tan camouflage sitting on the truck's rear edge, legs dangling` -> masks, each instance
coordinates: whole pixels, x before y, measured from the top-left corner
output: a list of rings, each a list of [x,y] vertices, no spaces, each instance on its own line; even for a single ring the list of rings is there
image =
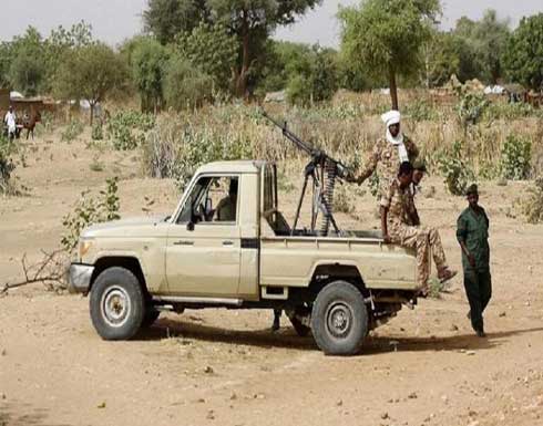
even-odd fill
[[[438,268],[438,278],[445,282],[457,274],[447,266],[445,253],[439,232],[434,228],[422,228],[410,225],[410,193],[413,166],[409,162],[400,165],[398,178],[392,180],[389,190],[380,201],[382,239],[386,243],[393,242],[417,250],[417,281],[420,294],[428,294],[430,264],[428,250],[431,249],[433,261]]]

